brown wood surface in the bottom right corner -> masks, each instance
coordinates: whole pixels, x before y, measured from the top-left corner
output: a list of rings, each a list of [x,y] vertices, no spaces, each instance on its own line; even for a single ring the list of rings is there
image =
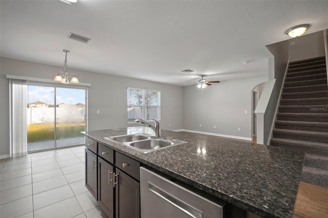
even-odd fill
[[[293,218],[321,217],[328,217],[328,189],[300,182],[293,210]]]

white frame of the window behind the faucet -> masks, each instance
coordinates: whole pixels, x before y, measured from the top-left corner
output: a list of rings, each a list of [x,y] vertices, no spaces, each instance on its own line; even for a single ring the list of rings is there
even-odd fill
[[[137,91],[142,91],[142,104],[141,105],[137,105],[137,104],[128,104],[128,91],[129,90],[137,90]],[[157,92],[157,96],[158,96],[158,104],[157,106],[151,106],[151,105],[146,105],[146,92],[149,91],[149,92]],[[147,111],[147,107],[157,107],[158,108],[158,114],[157,114],[157,118],[156,119],[157,121],[160,121],[160,91],[159,90],[148,90],[148,89],[139,89],[139,88],[132,88],[132,87],[128,87],[127,88],[127,109],[129,107],[141,107],[142,108],[142,117],[140,117],[139,119],[142,119],[142,120],[145,120],[145,121],[152,121],[152,120],[147,120],[146,117],[147,117],[147,114],[146,114],[146,111]],[[137,118],[135,118],[137,119]],[[134,121],[129,121],[129,114],[128,114],[128,110],[127,110],[127,121],[128,123],[136,123]]]

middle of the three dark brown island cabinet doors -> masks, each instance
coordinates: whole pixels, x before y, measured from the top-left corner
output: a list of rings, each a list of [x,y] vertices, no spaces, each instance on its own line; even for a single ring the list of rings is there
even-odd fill
[[[98,158],[98,200],[109,218],[114,217],[114,167]],[[112,181],[111,181],[112,180]]]

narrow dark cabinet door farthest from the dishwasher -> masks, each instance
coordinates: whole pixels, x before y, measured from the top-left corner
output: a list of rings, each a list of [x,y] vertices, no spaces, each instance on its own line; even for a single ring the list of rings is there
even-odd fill
[[[93,195],[93,197],[98,200],[97,196],[97,156],[93,154],[88,149],[86,151],[86,187]]]

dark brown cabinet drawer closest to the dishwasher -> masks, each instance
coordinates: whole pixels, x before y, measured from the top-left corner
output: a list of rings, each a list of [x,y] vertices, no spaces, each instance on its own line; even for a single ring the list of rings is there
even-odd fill
[[[115,166],[128,173],[131,177],[140,180],[140,163],[138,161],[116,152]]]

